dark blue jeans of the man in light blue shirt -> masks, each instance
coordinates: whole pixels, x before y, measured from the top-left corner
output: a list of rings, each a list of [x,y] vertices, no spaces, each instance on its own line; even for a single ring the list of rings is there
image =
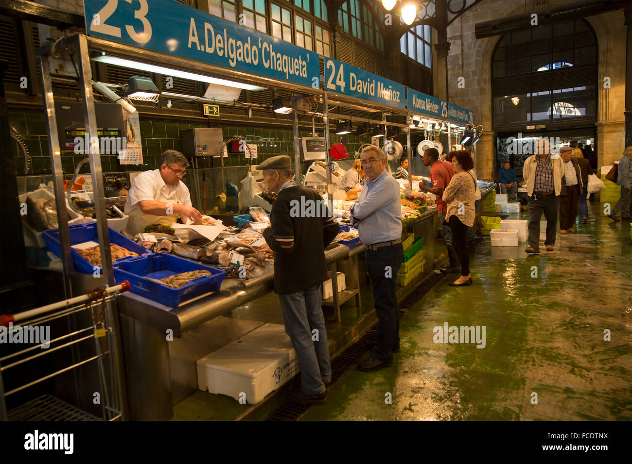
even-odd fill
[[[399,348],[397,273],[403,258],[404,247],[401,243],[365,251],[378,320],[375,347],[371,356],[383,362],[392,362],[392,349]]]

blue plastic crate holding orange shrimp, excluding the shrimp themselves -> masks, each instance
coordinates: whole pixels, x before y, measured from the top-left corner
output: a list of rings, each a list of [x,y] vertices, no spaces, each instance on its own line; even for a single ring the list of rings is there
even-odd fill
[[[70,227],[68,227],[68,230],[70,232],[70,246],[83,243],[83,242],[90,242],[90,241],[99,243],[99,234],[97,232],[96,222],[92,222],[88,224],[71,225]],[[109,235],[110,235],[110,243],[117,244],[118,246],[122,246],[123,248],[126,248],[138,254],[151,253],[147,248],[142,247],[136,242],[128,239],[127,237],[125,237],[125,235],[119,234],[118,232],[116,232],[116,230],[112,230],[109,228],[107,230],[109,231]],[[44,232],[42,232],[42,237],[44,238],[44,242],[46,243],[46,246],[48,247],[48,249],[52,253],[61,257],[61,244],[59,244],[59,229],[44,230]],[[76,271],[88,273],[88,274],[94,273],[95,271],[94,266],[92,266],[90,263],[88,263],[88,261],[83,259],[82,256],[79,253],[77,253],[74,248],[71,248],[71,253],[73,255],[73,263],[75,263]],[[126,257],[126,258],[116,259],[114,263],[118,263],[119,261],[122,261],[123,259],[128,259],[128,258]],[[99,269],[100,268],[101,267],[99,266]]]

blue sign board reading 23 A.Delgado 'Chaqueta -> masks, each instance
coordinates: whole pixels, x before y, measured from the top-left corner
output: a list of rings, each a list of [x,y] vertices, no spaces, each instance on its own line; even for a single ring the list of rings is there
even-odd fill
[[[173,0],[83,0],[88,35],[320,88],[318,54]]]

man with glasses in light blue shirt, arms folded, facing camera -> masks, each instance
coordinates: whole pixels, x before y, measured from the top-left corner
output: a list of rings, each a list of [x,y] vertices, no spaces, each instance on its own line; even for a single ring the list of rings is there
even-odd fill
[[[368,372],[392,366],[392,354],[399,351],[396,289],[404,247],[401,244],[399,184],[386,170],[384,152],[377,146],[367,146],[362,150],[360,160],[367,180],[356,203],[351,206],[351,222],[367,246],[365,259],[379,321],[375,347],[371,355],[358,364],[360,371]]]

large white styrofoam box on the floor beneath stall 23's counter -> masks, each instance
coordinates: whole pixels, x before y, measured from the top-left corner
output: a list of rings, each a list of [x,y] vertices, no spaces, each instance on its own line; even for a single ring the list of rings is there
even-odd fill
[[[300,370],[282,324],[264,324],[197,360],[198,388],[253,405]]]

